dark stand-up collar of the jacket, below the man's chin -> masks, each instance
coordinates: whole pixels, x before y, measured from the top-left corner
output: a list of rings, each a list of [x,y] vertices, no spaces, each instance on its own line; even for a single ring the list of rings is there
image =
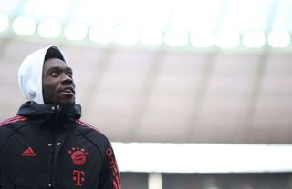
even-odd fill
[[[68,127],[68,123],[81,117],[81,106],[79,104],[63,106],[37,104],[36,102],[28,101],[21,105],[17,114],[29,117],[38,124],[49,121]]]

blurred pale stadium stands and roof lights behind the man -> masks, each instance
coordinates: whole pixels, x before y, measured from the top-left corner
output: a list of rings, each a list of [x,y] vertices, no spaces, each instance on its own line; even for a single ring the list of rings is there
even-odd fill
[[[0,0],[0,119],[26,55],[67,55],[126,189],[292,188],[291,0]]]

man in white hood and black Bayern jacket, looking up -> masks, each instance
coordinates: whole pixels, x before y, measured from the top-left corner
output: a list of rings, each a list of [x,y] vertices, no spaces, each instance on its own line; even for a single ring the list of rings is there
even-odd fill
[[[121,189],[108,138],[81,121],[72,69],[51,45],[18,72],[28,102],[0,123],[0,188]]]

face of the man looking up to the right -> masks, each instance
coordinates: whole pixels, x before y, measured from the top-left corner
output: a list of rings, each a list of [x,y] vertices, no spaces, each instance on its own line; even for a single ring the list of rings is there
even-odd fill
[[[47,59],[43,67],[45,104],[75,104],[75,84],[72,69],[57,58]]]

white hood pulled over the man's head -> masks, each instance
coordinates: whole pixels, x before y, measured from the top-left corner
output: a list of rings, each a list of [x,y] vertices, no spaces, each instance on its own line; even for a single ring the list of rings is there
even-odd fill
[[[44,104],[43,65],[48,58],[59,58],[68,64],[65,55],[56,45],[49,45],[28,55],[19,67],[18,85],[27,100]]]

